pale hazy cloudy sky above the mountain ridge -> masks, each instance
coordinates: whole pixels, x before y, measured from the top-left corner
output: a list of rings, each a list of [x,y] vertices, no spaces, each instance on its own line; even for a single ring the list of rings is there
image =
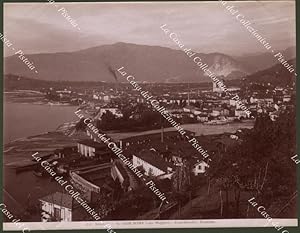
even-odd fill
[[[229,55],[267,52],[235,16],[219,2],[177,3],[62,3],[74,28],[45,3],[4,3],[4,33],[25,53],[76,51],[103,44],[128,42],[176,48],[160,29],[176,32],[186,47],[197,52]],[[295,2],[228,2],[250,20],[275,49],[295,46]],[[12,55],[5,47],[5,56]]]

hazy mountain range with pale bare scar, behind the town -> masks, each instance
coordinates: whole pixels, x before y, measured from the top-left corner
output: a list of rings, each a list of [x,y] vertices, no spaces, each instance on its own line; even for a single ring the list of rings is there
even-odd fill
[[[282,51],[287,59],[295,48]],[[294,53],[293,53],[294,52]],[[237,79],[276,64],[272,54],[231,57],[222,53],[197,53],[209,69],[224,79]],[[40,80],[115,82],[113,70],[122,66],[141,82],[182,83],[211,81],[181,50],[160,46],[116,43],[63,53],[28,54],[38,73],[31,71],[17,55],[4,59],[4,73]],[[124,82],[120,76],[119,82]]]

